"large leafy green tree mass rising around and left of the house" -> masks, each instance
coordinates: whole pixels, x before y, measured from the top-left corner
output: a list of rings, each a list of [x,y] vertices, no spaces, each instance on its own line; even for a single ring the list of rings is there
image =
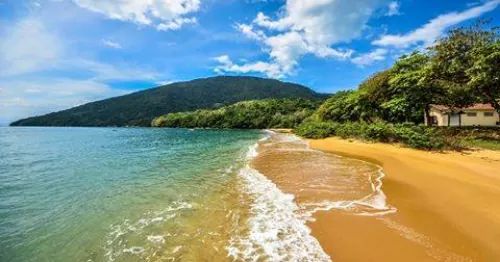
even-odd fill
[[[458,109],[478,102],[500,112],[499,50],[497,28],[484,22],[453,29],[426,50],[400,57],[357,90],[332,96],[316,116],[336,122],[422,123],[430,117],[431,104]]]

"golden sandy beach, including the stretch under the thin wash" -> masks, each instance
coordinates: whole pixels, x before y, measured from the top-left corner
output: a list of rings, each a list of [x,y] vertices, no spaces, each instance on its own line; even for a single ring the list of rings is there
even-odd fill
[[[373,177],[354,183],[347,177],[372,174],[368,163],[385,174],[381,195],[395,212],[313,212],[308,226],[333,261],[500,260],[500,153],[426,152],[338,138],[311,140],[315,150],[309,151],[290,145],[263,144],[253,165],[295,195],[301,208],[366,194],[363,181]],[[342,188],[344,183],[349,185]]]

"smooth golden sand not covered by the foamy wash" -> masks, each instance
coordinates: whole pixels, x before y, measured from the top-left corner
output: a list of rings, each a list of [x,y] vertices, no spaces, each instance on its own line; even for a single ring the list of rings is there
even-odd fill
[[[436,153],[338,138],[310,146],[380,165],[382,190],[397,209],[383,216],[316,212],[309,226],[334,261],[500,261],[500,152]]]

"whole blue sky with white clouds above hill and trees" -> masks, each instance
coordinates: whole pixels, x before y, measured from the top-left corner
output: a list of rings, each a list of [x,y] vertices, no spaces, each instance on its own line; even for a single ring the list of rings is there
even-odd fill
[[[500,0],[0,0],[0,125],[215,75],[353,89]]]

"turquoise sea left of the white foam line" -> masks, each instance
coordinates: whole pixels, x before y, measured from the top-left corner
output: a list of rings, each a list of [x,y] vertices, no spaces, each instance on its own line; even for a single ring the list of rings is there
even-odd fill
[[[0,128],[0,261],[223,258],[244,230],[236,170],[261,136]]]

